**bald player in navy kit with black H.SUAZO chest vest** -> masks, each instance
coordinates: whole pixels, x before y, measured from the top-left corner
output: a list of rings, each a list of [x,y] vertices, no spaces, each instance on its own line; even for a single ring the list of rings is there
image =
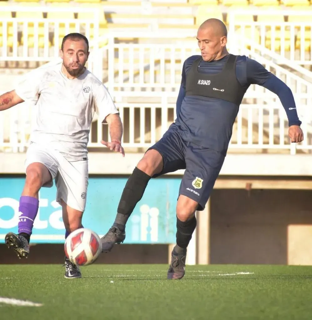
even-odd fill
[[[185,274],[187,247],[196,228],[195,211],[204,209],[219,175],[232,127],[251,84],[276,93],[289,121],[292,142],[303,140],[291,90],[260,63],[229,54],[222,21],[206,20],[197,32],[201,56],[185,60],[177,99],[177,118],[137,164],[122,193],[116,220],[102,238],[103,252],[125,239],[125,224],[151,178],[185,169],[176,208],[176,246],[168,279]]]

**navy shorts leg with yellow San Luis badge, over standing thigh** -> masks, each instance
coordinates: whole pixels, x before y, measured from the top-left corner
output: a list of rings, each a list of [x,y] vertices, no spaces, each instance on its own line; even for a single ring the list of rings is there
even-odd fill
[[[218,151],[194,144],[188,146],[185,156],[186,170],[181,181],[179,195],[196,201],[197,210],[204,210],[224,158]]]

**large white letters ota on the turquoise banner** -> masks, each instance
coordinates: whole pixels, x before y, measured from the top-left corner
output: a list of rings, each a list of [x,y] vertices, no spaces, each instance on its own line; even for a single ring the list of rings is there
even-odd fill
[[[58,204],[55,200],[52,201],[50,205],[54,209],[61,208],[61,205]],[[13,198],[0,198],[0,209],[6,206],[11,207],[14,210],[14,216],[9,220],[4,220],[3,218],[0,218],[0,228],[12,229],[18,225],[19,216],[20,216],[20,212],[19,212],[20,203],[18,200]],[[62,220],[62,210],[53,211],[52,213],[50,213],[49,218],[47,220],[40,220],[40,208],[44,208],[48,206],[49,206],[49,200],[45,198],[41,199],[40,193],[39,193],[39,209],[38,209],[36,219],[34,221],[34,228],[46,229],[50,224],[50,226],[54,229],[65,230],[63,220]]]

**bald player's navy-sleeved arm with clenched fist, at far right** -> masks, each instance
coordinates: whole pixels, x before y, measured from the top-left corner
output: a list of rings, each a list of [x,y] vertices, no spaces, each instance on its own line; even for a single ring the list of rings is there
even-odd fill
[[[247,60],[247,79],[250,84],[259,84],[278,96],[288,118],[288,135],[291,142],[301,142],[303,140],[301,121],[291,89],[259,62],[252,59]]]

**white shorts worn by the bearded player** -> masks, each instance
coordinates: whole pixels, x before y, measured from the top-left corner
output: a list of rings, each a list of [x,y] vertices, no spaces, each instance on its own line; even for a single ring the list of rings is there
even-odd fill
[[[84,212],[88,188],[88,160],[66,159],[60,152],[31,143],[26,152],[25,167],[39,162],[44,164],[55,179],[56,201],[61,199],[71,208]],[[51,188],[53,180],[43,187]]]

